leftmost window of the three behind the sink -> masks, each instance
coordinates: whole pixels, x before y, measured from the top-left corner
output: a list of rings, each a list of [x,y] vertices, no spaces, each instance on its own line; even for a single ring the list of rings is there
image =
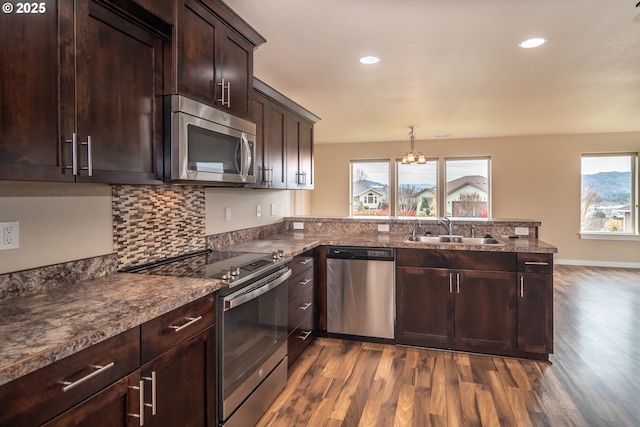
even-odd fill
[[[389,215],[389,160],[351,161],[351,215]]]

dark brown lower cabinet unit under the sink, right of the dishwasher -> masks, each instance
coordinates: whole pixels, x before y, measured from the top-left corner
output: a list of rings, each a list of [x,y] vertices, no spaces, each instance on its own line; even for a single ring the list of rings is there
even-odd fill
[[[548,359],[552,257],[398,249],[397,343]]]

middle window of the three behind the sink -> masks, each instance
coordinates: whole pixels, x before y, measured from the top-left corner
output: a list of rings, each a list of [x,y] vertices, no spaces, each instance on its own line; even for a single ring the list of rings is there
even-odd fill
[[[438,216],[438,160],[424,165],[396,162],[396,215]]]

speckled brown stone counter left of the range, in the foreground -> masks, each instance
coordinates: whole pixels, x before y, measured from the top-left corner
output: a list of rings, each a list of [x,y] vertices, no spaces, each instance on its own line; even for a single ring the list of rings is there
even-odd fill
[[[0,302],[0,385],[217,291],[212,279],[117,273]]]

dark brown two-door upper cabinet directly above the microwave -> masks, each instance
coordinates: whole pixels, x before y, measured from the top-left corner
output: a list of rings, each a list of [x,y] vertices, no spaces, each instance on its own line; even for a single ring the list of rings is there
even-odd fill
[[[253,50],[265,39],[218,0],[178,0],[176,12],[171,93],[250,119]]]

